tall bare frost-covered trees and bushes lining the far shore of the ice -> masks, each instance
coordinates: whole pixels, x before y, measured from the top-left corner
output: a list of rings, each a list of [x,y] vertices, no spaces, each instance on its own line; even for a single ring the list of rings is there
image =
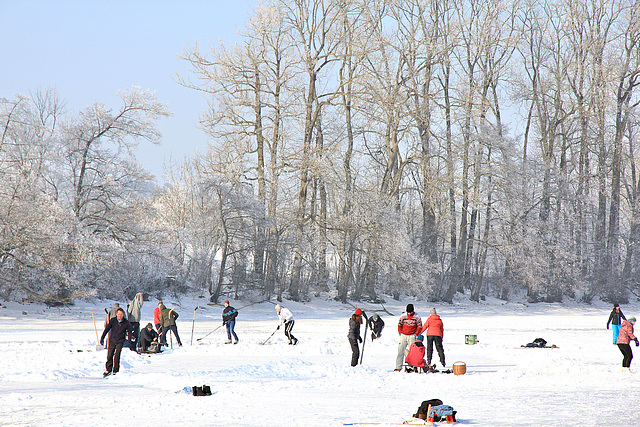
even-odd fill
[[[626,302],[639,42],[630,0],[266,2],[185,48],[211,144],[153,190],[149,93],[3,99],[0,291]]]

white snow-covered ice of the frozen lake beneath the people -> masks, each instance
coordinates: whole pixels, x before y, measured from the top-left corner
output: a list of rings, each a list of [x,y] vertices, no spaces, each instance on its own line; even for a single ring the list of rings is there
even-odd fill
[[[467,364],[466,375],[455,376],[393,371],[396,325],[406,303],[423,320],[431,303],[388,301],[394,316],[378,312],[385,321],[382,338],[369,338],[363,365],[351,368],[349,306],[285,301],[296,318],[297,346],[287,345],[282,329],[260,345],[277,326],[273,304],[240,309],[240,342],[230,346],[224,345],[224,328],[197,341],[221,324],[222,306],[207,305],[196,312],[191,345],[193,308],[203,300],[164,301],[180,313],[184,347],[176,348],[174,340],[173,349],[152,356],[124,349],[120,372],[106,379],[106,351],[96,351],[91,312],[100,334],[103,309],[112,302],[77,301],[60,309],[3,303],[0,425],[384,425],[402,423],[431,398],[453,406],[460,425],[640,425],[640,348],[632,346],[631,368],[638,373],[622,372],[622,354],[605,329],[609,304],[436,304],[447,366]],[[381,309],[358,306],[369,314]],[[154,308],[155,301],[145,302],[142,325],[153,320]],[[637,316],[640,306],[623,305],[623,311]],[[479,343],[465,345],[466,334],[477,335]],[[559,348],[520,347],[538,337]],[[212,395],[192,396],[191,386],[203,384]]]

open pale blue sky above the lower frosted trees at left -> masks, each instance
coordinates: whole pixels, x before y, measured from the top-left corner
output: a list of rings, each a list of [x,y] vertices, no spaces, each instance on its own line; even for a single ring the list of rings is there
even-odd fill
[[[206,149],[196,128],[202,95],[175,82],[188,43],[234,43],[257,0],[0,0],[0,97],[55,87],[74,112],[94,102],[119,106],[119,89],[156,91],[174,116],[160,147],[138,159],[163,183],[163,163]]]

